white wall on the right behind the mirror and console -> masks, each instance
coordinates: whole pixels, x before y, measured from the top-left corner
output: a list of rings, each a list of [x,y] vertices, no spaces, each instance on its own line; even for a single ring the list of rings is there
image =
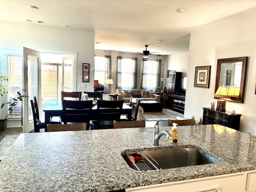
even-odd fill
[[[256,16],[240,16],[229,22],[190,35],[188,83],[184,116],[200,118],[203,107],[214,99],[217,60],[248,56],[244,103],[227,102],[226,110],[236,108],[242,114],[240,130],[256,135]],[[194,87],[195,66],[211,66],[210,88]]]

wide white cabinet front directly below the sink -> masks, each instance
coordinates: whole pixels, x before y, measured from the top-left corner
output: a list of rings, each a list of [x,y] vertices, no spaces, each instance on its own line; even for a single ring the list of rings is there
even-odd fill
[[[228,174],[126,189],[126,192],[204,192],[220,188],[222,192],[243,192],[244,174]]]

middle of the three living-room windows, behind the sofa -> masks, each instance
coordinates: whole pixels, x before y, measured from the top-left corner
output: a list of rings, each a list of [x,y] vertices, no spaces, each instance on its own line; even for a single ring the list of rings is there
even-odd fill
[[[136,88],[137,60],[138,58],[117,57],[117,88]]]

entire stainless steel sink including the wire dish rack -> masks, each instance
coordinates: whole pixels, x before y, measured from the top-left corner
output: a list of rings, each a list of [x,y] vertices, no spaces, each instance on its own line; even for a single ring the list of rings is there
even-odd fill
[[[132,162],[129,156],[140,154],[142,162]],[[209,152],[209,154],[211,154]],[[203,164],[219,163],[216,158],[194,148],[170,148],[161,150],[148,150],[139,152],[128,152],[123,155],[131,168],[140,171],[170,169]],[[146,167],[146,168],[145,168]]]

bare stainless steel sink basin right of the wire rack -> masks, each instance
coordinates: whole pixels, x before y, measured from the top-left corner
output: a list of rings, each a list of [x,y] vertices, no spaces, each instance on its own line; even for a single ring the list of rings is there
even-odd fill
[[[193,148],[172,148],[142,152],[146,157],[151,156],[158,162],[159,168],[170,169],[193,165],[219,163],[216,158]]]

